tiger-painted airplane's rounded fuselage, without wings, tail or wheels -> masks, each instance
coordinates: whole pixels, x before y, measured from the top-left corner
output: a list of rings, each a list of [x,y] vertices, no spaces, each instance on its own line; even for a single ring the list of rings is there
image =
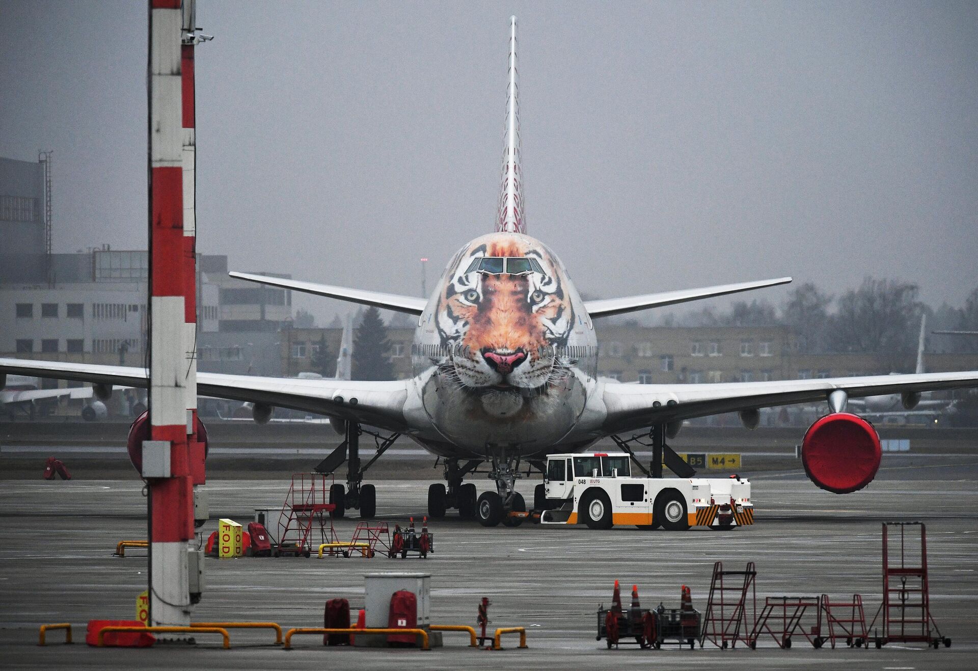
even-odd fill
[[[414,436],[443,456],[529,456],[575,435],[597,387],[598,343],[563,264],[518,233],[476,238],[448,263],[412,347]]]

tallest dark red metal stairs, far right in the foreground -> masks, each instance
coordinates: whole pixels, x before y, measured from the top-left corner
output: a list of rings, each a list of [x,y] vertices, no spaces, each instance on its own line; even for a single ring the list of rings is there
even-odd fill
[[[893,530],[893,537],[890,532]],[[919,551],[916,550],[919,532]],[[899,555],[896,546],[899,544]],[[891,554],[891,550],[893,551]],[[899,559],[898,559],[899,557]],[[927,583],[927,528],[923,522],[883,522],[883,603],[869,624],[880,620],[883,632],[873,632],[876,648],[888,643],[924,643],[951,648],[930,614]]]

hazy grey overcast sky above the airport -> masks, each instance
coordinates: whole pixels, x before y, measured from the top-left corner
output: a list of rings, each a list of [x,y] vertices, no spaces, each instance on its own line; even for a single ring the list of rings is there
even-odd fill
[[[528,232],[581,291],[978,286],[973,2],[200,0],[200,251],[431,287],[493,229],[511,14]],[[145,2],[0,0],[0,156],[54,150],[56,251],[146,246],[146,49]]]

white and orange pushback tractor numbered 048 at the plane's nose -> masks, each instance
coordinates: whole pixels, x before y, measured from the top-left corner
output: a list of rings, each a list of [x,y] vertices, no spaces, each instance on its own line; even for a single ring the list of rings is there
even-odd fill
[[[625,453],[550,455],[544,487],[549,510],[540,514],[541,524],[684,531],[754,523],[746,478],[634,477]]]

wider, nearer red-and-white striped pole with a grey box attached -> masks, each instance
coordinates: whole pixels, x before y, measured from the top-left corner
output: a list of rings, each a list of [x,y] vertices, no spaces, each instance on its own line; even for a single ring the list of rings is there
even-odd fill
[[[150,620],[190,624],[194,488],[187,418],[186,256],[180,0],[150,0]],[[194,278],[190,278],[190,284]],[[152,466],[151,466],[152,465]],[[168,466],[168,468],[167,468]]]

